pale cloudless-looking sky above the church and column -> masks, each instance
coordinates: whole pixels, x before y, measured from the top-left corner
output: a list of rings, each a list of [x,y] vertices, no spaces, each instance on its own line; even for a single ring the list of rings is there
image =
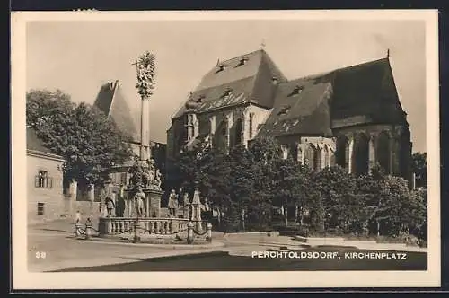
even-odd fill
[[[101,84],[119,80],[139,127],[136,68],[149,50],[156,56],[150,103],[151,139],[166,143],[171,117],[202,76],[225,60],[264,48],[288,79],[386,56],[413,152],[426,151],[426,55],[423,21],[139,21],[29,22],[27,90],[62,91],[93,103]]]

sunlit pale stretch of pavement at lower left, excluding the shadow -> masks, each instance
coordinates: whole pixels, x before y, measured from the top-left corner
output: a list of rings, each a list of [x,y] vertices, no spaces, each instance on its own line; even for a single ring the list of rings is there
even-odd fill
[[[119,264],[152,256],[192,253],[192,248],[151,245],[128,245],[113,242],[78,241],[75,223],[61,220],[28,227],[28,268],[48,271],[66,267],[89,267]],[[95,223],[93,223],[95,226]],[[210,251],[213,249],[200,251]],[[93,265],[95,264],[95,265]]]

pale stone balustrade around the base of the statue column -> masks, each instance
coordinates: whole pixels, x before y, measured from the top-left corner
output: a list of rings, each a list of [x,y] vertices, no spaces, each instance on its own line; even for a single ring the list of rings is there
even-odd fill
[[[99,234],[101,237],[126,236],[135,228],[141,235],[172,235],[187,232],[188,219],[185,218],[139,218],[101,217]]]

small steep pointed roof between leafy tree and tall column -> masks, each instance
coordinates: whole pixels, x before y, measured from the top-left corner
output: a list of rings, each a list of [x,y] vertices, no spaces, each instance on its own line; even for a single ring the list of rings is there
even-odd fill
[[[131,137],[133,141],[138,140],[136,124],[121,92],[119,81],[103,84],[94,105],[108,115],[122,133]]]

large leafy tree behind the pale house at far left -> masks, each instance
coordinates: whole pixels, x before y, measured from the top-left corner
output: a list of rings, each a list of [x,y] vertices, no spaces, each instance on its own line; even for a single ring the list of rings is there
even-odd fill
[[[108,170],[131,156],[127,139],[101,110],[84,102],[75,105],[64,92],[27,93],[27,125],[44,145],[66,159],[67,181],[101,185]]]

